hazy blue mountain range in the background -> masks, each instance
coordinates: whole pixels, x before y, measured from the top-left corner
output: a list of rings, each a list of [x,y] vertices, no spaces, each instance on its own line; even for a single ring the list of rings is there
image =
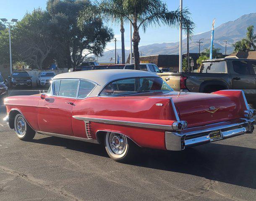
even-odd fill
[[[231,54],[233,51],[232,44],[238,40],[241,40],[246,36],[246,28],[253,25],[256,28],[256,13],[250,13],[242,15],[235,21],[228,21],[221,24],[214,29],[214,47],[220,48],[220,52],[225,54],[225,40],[227,41],[227,54]],[[189,42],[189,51],[197,53],[199,52],[198,41],[202,40],[201,52],[204,48],[209,48],[211,42],[211,31],[206,31],[204,33],[196,34]],[[115,52],[115,50],[112,50]],[[117,49],[119,56],[121,55],[121,49]],[[179,52],[179,42],[174,43],[156,43],[144,46],[139,46],[139,52],[142,56],[156,55],[156,54],[178,54]],[[187,39],[183,40],[183,53],[187,52]],[[127,59],[130,51],[125,50],[125,57]],[[104,56],[99,58],[99,62],[109,62],[110,57],[112,57],[111,51],[104,52]],[[125,60],[126,61],[126,60]]]

